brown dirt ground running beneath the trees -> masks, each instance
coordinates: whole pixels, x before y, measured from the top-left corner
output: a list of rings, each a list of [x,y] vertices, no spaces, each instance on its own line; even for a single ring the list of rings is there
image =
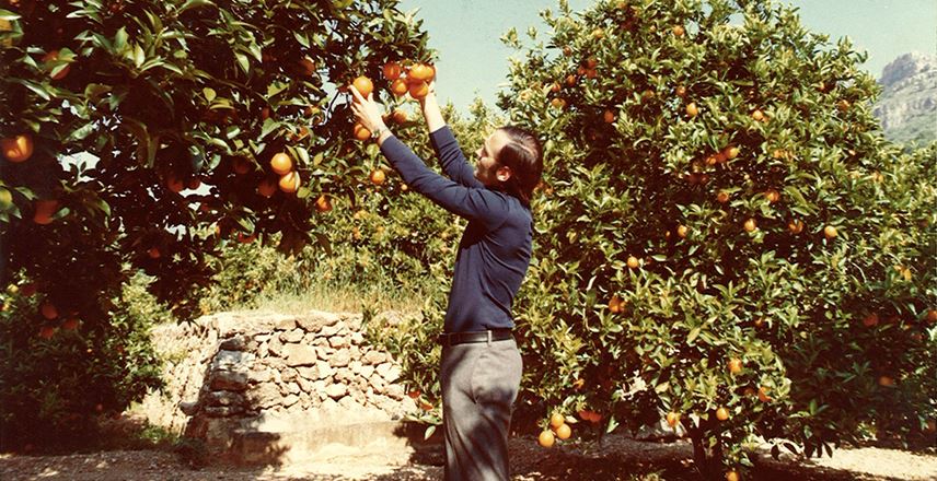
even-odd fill
[[[511,439],[512,480],[701,480],[689,442],[638,442],[611,435],[601,446],[544,449],[533,437]],[[69,456],[0,455],[0,479],[14,480],[441,480],[439,450],[371,453],[336,448],[315,462],[193,469],[171,450],[117,450]],[[832,458],[779,461],[762,456],[749,480],[937,480],[937,453],[883,448],[840,449]]]

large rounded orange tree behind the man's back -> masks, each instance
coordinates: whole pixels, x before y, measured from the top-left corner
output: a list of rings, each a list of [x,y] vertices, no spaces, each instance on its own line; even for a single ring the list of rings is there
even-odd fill
[[[608,429],[668,413],[712,478],[755,439],[818,455],[926,429],[934,151],[882,139],[864,56],[771,1],[543,17],[546,40],[506,35],[523,55],[499,98],[548,164],[522,400]]]

